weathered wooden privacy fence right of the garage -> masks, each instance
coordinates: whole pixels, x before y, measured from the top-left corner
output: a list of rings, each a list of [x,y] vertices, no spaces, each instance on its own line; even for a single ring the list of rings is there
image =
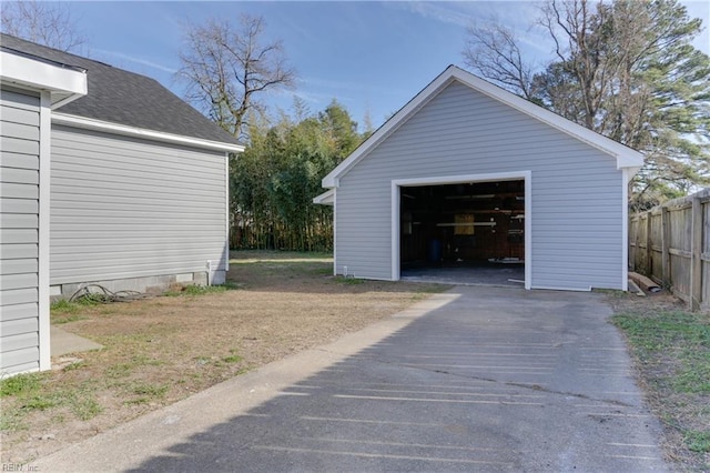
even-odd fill
[[[709,310],[710,188],[631,215],[629,264],[691,310]]]

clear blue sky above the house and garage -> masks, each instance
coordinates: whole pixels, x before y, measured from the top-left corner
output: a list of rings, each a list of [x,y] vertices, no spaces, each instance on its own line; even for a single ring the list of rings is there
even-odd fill
[[[710,2],[683,2],[692,17],[710,22]],[[525,1],[467,2],[73,2],[72,17],[87,37],[90,57],[150,76],[179,95],[174,73],[185,24],[209,18],[261,14],[267,38],[281,39],[298,73],[296,88],[273,95],[275,110],[293,97],[311,111],[333,99],[354,120],[366,113],[381,125],[448,64],[463,66],[466,26],[496,16],[515,28],[525,52],[544,63],[551,44],[535,29],[535,4]],[[710,53],[708,31],[696,47]]]

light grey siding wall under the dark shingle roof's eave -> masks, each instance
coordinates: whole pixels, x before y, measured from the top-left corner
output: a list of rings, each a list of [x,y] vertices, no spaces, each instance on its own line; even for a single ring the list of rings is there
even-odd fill
[[[54,125],[51,284],[143,290],[136,279],[206,276],[207,261],[211,282],[223,282],[225,159],[224,151]]]

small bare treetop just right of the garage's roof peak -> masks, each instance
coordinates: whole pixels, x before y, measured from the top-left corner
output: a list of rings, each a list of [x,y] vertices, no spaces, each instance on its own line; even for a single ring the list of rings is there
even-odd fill
[[[463,56],[466,66],[515,93],[532,99],[532,68],[523,59],[513,30],[496,19],[471,24]]]

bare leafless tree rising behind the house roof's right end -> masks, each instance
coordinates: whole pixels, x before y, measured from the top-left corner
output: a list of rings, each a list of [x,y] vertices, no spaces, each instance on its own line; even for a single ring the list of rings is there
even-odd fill
[[[250,112],[263,111],[263,92],[295,82],[282,42],[264,40],[265,26],[262,17],[245,13],[236,26],[229,20],[191,26],[180,54],[186,99],[235,137],[244,132]]]

